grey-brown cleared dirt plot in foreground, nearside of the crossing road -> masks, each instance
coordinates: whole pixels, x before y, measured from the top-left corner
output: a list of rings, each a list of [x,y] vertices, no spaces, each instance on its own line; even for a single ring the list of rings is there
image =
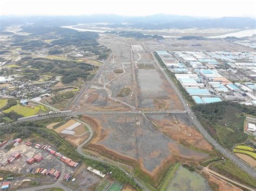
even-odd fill
[[[140,122],[138,126],[136,118]],[[186,160],[197,163],[208,157],[208,154],[189,150],[158,131],[142,115],[90,115],[89,119],[82,120],[92,123],[96,132],[87,146],[89,150],[111,155],[130,165],[139,164],[143,171],[152,176],[166,162]]]

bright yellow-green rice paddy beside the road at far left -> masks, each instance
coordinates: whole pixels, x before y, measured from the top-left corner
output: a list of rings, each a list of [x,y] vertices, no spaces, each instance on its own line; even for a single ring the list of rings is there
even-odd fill
[[[36,115],[39,111],[47,111],[43,105],[35,106],[35,107],[28,107],[28,106],[23,106],[21,104],[14,105],[10,107],[9,109],[4,110],[3,112],[9,113],[11,111],[16,112],[17,114],[23,115],[24,117],[29,117],[32,115]]]

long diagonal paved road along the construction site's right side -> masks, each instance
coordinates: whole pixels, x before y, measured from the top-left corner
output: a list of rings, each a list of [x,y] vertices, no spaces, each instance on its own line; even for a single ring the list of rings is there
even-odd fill
[[[174,84],[174,82],[170,79],[169,75],[164,71],[164,69],[160,66],[160,63],[158,62],[158,60],[156,59],[156,57],[154,56],[154,54],[151,52],[154,61],[157,63],[157,66],[159,67],[161,73],[163,73],[163,75],[165,76],[166,80],[170,83],[171,87],[173,88],[173,90],[176,92],[176,94],[178,95],[178,97],[180,98],[181,103],[183,104],[183,107],[185,108],[188,117],[190,118],[191,122],[194,124],[194,126],[196,126],[196,128],[198,129],[198,131],[201,133],[201,135],[203,135],[205,137],[205,139],[211,143],[221,154],[225,155],[226,158],[230,159],[235,165],[237,165],[242,171],[246,172],[247,174],[251,175],[253,178],[255,178],[256,176],[256,172],[253,168],[251,168],[250,166],[248,166],[244,161],[242,161],[240,158],[238,158],[236,155],[234,155],[232,152],[226,150],[223,146],[221,146],[220,144],[218,144],[216,142],[215,139],[213,139],[208,132],[203,128],[203,126],[201,126],[201,124],[199,123],[196,115],[193,114],[192,110],[190,109],[190,107],[188,106],[188,104],[186,104],[182,94],[180,93],[179,89],[176,87],[176,85]]]

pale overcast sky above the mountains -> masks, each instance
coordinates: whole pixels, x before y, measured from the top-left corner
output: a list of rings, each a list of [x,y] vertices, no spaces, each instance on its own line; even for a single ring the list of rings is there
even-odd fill
[[[256,1],[146,1],[146,0],[0,0],[0,15],[87,15],[114,13],[146,16],[158,13],[200,17],[256,17]]]

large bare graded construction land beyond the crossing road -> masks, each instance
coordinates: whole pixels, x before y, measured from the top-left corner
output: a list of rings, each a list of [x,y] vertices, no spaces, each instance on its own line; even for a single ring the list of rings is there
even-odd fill
[[[113,56],[71,110],[183,110],[143,43],[111,36],[99,42],[111,48]],[[127,94],[123,94],[124,88],[129,89]]]

